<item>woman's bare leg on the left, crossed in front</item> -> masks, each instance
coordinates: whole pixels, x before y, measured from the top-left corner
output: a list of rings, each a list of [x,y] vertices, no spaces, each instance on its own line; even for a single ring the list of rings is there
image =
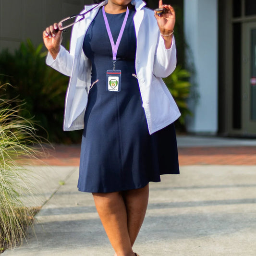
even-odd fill
[[[117,256],[134,256],[122,194],[93,193],[99,218]]]

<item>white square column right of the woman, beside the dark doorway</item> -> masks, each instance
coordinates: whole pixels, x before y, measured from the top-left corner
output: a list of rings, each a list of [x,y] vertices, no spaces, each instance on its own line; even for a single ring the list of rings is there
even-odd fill
[[[184,0],[184,32],[193,62],[198,98],[189,100],[193,117],[186,122],[193,133],[218,131],[218,0]]]

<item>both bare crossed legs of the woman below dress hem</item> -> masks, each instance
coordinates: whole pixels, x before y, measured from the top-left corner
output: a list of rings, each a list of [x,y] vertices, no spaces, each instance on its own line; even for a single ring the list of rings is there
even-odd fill
[[[148,185],[114,193],[93,193],[95,205],[117,256],[134,256],[132,246],[143,223]]]

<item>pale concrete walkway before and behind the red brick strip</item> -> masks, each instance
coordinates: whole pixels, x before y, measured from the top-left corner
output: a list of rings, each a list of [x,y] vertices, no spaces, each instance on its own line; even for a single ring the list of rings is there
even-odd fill
[[[204,146],[204,139],[188,145],[195,138],[179,137],[180,147],[181,139],[183,147],[185,142]],[[240,143],[222,141],[221,146],[256,146],[255,140]],[[2,255],[113,256],[92,196],[77,191],[78,167],[36,166],[33,172],[39,177],[32,179],[37,194],[34,201],[25,200],[43,205],[35,232],[27,243]],[[256,165],[186,165],[180,175],[150,183],[146,219],[134,251],[140,256],[255,256]]]

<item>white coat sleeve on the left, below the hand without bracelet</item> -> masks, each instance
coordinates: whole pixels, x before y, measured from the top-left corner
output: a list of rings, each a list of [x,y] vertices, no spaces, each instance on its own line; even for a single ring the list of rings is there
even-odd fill
[[[71,76],[73,60],[74,57],[63,46],[61,46],[55,60],[48,53],[46,64],[64,75]]]

